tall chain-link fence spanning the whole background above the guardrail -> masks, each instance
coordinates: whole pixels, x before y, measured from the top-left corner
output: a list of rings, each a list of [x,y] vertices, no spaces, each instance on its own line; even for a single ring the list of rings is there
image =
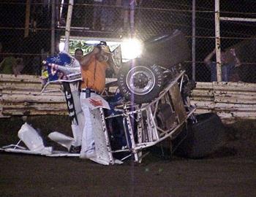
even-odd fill
[[[21,73],[40,74],[42,59],[53,47],[52,36],[57,53],[58,42],[65,34],[69,1],[54,1],[55,9],[52,5],[53,1],[45,0],[0,1],[1,60],[11,55],[23,58]],[[255,18],[255,6],[252,0],[244,1],[242,6],[221,1],[220,15]],[[195,17],[195,80],[209,82],[211,68],[206,66],[204,59],[215,47],[214,0],[196,1]],[[233,80],[255,82],[256,23],[221,21],[220,24],[221,48],[227,51],[235,48],[240,61],[234,69],[236,77]],[[192,48],[192,1],[75,0],[70,36],[115,40],[134,34],[145,41],[159,34],[170,34],[175,29],[186,34]],[[83,47],[78,46],[80,43],[72,42],[71,47]],[[184,66],[192,77],[192,58]]]

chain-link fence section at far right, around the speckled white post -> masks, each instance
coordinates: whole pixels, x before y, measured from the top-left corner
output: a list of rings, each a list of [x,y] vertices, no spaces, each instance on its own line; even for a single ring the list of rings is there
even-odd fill
[[[242,18],[240,20],[255,18],[255,6],[256,1],[222,0],[219,1],[219,15],[222,18]],[[215,47],[214,1],[197,1],[196,10],[196,79],[209,81],[211,69],[203,60]],[[235,64],[229,77],[231,81],[256,82],[255,35],[255,22],[220,20],[221,49],[225,52],[222,63]],[[230,54],[230,49],[235,53]],[[214,56],[212,61],[215,61]]]

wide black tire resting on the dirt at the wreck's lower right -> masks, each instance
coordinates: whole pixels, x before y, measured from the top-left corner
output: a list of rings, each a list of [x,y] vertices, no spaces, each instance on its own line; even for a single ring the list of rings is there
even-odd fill
[[[178,144],[176,155],[186,158],[203,158],[215,152],[222,144],[225,127],[214,113],[197,115],[197,123],[190,123],[174,140]]]

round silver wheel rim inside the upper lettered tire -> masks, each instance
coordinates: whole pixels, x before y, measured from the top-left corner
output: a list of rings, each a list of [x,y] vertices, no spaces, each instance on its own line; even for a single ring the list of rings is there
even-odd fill
[[[154,88],[156,77],[146,66],[135,66],[127,74],[127,88],[137,95],[146,95]]]

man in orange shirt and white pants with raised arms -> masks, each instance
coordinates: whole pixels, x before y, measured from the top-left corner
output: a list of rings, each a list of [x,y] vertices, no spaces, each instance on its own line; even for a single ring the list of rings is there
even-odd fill
[[[100,42],[99,45],[94,47],[91,53],[80,59],[80,69],[83,79],[80,85],[80,104],[85,117],[80,158],[96,157],[94,145],[94,129],[96,128],[93,125],[95,123],[96,113],[99,113],[97,107],[102,107],[103,99],[94,98],[102,93],[105,88],[105,72],[109,66],[112,66],[110,55],[111,52],[106,43]],[[116,72],[116,69],[114,69],[114,72]]]

